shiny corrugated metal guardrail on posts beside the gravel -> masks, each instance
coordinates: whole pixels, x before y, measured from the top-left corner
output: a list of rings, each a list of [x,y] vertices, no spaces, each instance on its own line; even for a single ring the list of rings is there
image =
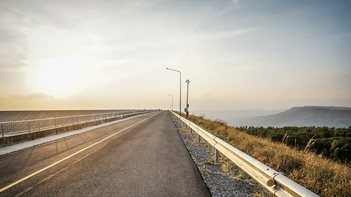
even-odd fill
[[[268,191],[277,197],[319,197],[315,193],[307,190],[303,186],[286,178],[283,174],[267,167],[256,159],[246,155],[244,152],[234,148],[230,144],[224,142],[220,138],[208,133],[198,125],[186,120],[171,111],[177,118],[183,121],[186,126],[190,127],[191,132],[195,131],[198,134],[198,142],[203,137],[208,143],[216,148],[216,162],[218,162],[218,154],[221,152],[234,162],[239,168],[244,170],[248,175],[255,179]],[[219,151],[219,152],[218,152]]]

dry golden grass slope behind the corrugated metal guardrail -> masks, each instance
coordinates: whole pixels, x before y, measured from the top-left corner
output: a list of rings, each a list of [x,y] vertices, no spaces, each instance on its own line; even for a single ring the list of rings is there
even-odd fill
[[[176,111],[175,111],[176,112]],[[177,112],[176,112],[177,113]],[[179,113],[179,112],[178,112]],[[182,114],[185,117],[185,114]],[[286,144],[287,134],[281,141],[249,135],[240,128],[205,115],[189,115],[188,120],[207,130],[233,147],[245,152],[270,168],[283,172],[287,178],[321,197],[351,196],[351,168],[346,162],[321,157],[310,150],[313,140],[305,147]],[[242,129],[241,129],[242,130]]]

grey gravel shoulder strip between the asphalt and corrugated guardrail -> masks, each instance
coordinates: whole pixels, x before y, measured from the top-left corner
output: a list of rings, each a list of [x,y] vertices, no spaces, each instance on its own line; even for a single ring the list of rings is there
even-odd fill
[[[197,133],[191,134],[189,127],[185,128],[185,124],[177,120],[176,116],[173,114],[171,116],[213,197],[272,196],[221,153],[219,154],[219,162],[215,163],[215,148],[203,138],[198,143]]]

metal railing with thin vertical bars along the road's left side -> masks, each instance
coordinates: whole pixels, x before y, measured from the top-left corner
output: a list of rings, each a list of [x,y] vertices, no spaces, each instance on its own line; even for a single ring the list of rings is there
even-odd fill
[[[158,110],[133,110],[133,111],[122,111],[117,113],[107,114],[92,114],[82,116],[69,116],[59,118],[46,118],[39,120],[27,120],[27,121],[15,121],[15,122],[1,122],[0,123],[0,134],[2,137],[6,134],[13,133],[29,133],[33,131],[40,131],[44,129],[52,129],[57,127],[64,127],[67,125],[79,124],[83,122],[91,122],[97,120],[104,120],[114,117],[123,117],[126,115],[140,114],[145,112],[153,112]]]

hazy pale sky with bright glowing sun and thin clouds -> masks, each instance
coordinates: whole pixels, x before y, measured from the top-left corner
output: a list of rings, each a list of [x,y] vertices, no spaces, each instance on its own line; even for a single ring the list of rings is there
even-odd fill
[[[351,107],[350,49],[350,0],[1,0],[0,110]]]

